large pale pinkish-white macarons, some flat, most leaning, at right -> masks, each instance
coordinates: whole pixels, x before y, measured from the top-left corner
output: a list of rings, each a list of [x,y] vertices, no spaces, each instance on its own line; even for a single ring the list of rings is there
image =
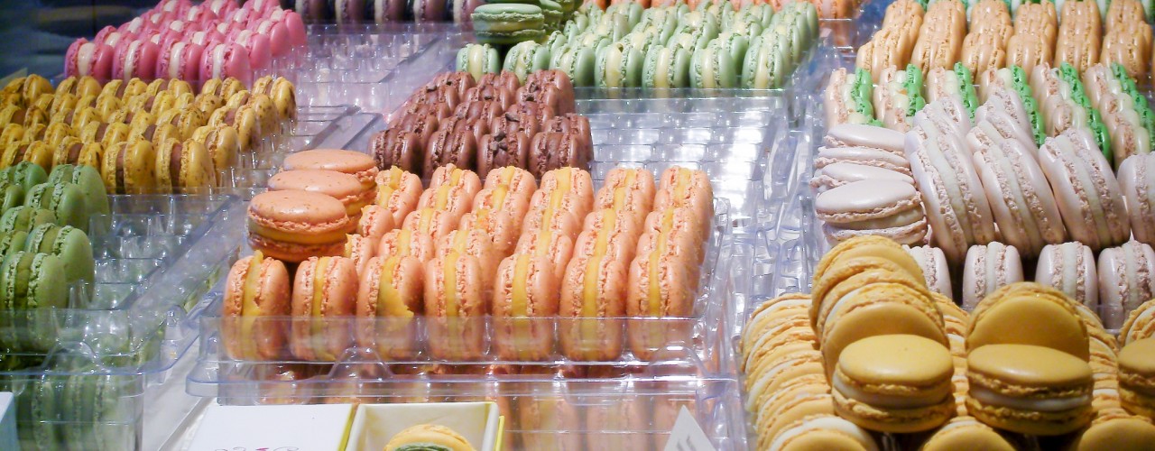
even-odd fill
[[[953,264],[962,263],[969,246],[996,240],[1027,257],[1068,238],[1096,251],[1132,233],[1141,242],[1155,240],[1146,213],[1153,202],[1150,155],[1130,157],[1117,176],[1085,128],[1068,128],[1036,148],[1005,92],[994,90],[974,127],[951,97],[917,113],[906,135],[833,127],[812,180],[821,190],[815,210],[827,235],[839,241],[886,233],[917,245],[929,223],[930,239]],[[881,189],[855,188],[860,183]],[[862,209],[872,203],[880,209]]]

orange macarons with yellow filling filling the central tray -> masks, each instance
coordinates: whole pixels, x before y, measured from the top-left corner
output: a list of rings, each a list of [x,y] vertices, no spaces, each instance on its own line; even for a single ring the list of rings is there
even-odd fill
[[[229,275],[233,359],[333,361],[356,339],[382,359],[476,361],[491,352],[487,329],[492,352],[515,361],[616,361],[624,333],[648,360],[690,339],[669,321],[623,331],[618,320],[694,315],[713,217],[700,171],[671,167],[655,183],[646,170],[611,170],[595,196],[573,167],[538,185],[504,166],[483,185],[450,164],[424,191],[417,175],[378,172],[359,152],[298,152],[285,168],[249,204],[254,255]],[[337,325],[352,317],[373,321]]]

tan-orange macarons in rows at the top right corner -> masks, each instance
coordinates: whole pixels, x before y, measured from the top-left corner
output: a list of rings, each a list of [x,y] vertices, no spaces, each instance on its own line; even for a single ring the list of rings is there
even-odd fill
[[[886,68],[908,62],[923,72],[963,62],[973,73],[1008,65],[1029,72],[1043,62],[1066,62],[1082,72],[1102,62],[1124,65],[1132,76],[1147,74],[1152,30],[1139,0],[1112,1],[1109,10],[1100,10],[1094,1],[1067,1],[1058,13],[1050,1],[1018,8],[998,0],[966,3],[891,3],[882,28],[858,48],[858,67],[875,78]],[[973,10],[981,13],[970,16],[968,33],[967,14]]]

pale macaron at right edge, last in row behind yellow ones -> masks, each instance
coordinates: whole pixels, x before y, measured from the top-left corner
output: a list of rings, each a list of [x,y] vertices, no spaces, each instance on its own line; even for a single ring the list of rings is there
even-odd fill
[[[1117,329],[1131,310],[1155,298],[1155,250],[1139,241],[1098,254],[1098,314]]]

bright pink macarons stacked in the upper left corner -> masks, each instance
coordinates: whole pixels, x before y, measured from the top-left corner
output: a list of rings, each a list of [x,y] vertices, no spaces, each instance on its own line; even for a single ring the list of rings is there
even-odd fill
[[[277,1],[162,0],[120,27],[80,38],[65,54],[66,76],[100,81],[176,78],[198,83],[236,77],[252,81],[274,59],[306,45],[300,16]]]

